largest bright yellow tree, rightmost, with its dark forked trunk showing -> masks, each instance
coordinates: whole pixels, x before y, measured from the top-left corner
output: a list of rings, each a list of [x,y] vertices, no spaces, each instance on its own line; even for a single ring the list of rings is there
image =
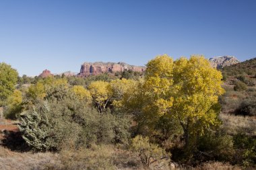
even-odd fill
[[[192,137],[220,124],[218,97],[224,93],[222,73],[203,56],[182,57],[174,62],[173,82],[174,100],[169,114],[179,120],[188,148]]]

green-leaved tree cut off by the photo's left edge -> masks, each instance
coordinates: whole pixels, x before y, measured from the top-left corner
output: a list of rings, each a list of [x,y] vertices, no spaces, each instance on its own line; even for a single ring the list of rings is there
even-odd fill
[[[0,107],[6,105],[7,98],[15,89],[18,72],[11,65],[0,62]]]

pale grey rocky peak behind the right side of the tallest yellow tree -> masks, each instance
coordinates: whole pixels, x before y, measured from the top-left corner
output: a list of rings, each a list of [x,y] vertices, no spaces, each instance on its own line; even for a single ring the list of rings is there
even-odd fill
[[[222,69],[225,66],[235,65],[239,63],[234,56],[217,56],[209,59],[212,67]]]

